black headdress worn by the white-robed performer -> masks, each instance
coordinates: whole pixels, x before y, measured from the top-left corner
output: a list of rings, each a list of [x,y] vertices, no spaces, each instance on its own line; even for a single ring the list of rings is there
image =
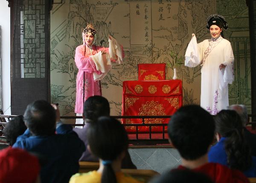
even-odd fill
[[[207,18],[206,28],[209,29],[212,25],[217,25],[225,30],[228,28],[226,19],[220,14],[212,14]]]

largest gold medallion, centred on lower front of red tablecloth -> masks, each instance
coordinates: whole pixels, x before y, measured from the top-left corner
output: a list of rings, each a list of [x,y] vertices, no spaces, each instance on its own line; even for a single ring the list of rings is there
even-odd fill
[[[163,104],[158,101],[147,101],[141,105],[138,115],[166,115]],[[145,118],[145,124],[163,123],[163,118]]]

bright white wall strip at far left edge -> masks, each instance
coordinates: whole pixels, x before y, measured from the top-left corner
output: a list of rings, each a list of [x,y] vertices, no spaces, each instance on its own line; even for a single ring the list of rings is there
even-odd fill
[[[10,8],[8,1],[0,1],[1,25],[1,83],[2,109],[5,115],[11,114],[11,80],[10,80]]]

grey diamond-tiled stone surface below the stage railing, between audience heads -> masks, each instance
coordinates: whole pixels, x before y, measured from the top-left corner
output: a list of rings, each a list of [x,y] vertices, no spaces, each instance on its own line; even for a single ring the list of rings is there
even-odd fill
[[[180,155],[173,148],[129,148],[137,169],[152,169],[163,173],[180,165]]]

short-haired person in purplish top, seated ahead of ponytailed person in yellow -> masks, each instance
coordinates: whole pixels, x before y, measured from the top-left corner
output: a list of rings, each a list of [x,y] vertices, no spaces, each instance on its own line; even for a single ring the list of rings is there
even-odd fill
[[[93,121],[96,121],[100,116],[109,116],[110,115],[110,106],[107,99],[105,99],[102,96],[90,96],[85,102],[84,102],[84,112],[83,112],[83,118],[84,118],[84,127],[82,129],[80,128],[74,128],[73,130],[78,134],[79,138],[84,142],[84,145],[88,145],[87,141],[87,129],[90,126]],[[81,158],[80,161],[99,161],[99,158],[96,158],[89,149],[86,149]],[[123,169],[137,169],[137,167],[132,163],[131,157],[129,152],[127,151],[125,154],[125,158],[122,160],[122,168]]]

